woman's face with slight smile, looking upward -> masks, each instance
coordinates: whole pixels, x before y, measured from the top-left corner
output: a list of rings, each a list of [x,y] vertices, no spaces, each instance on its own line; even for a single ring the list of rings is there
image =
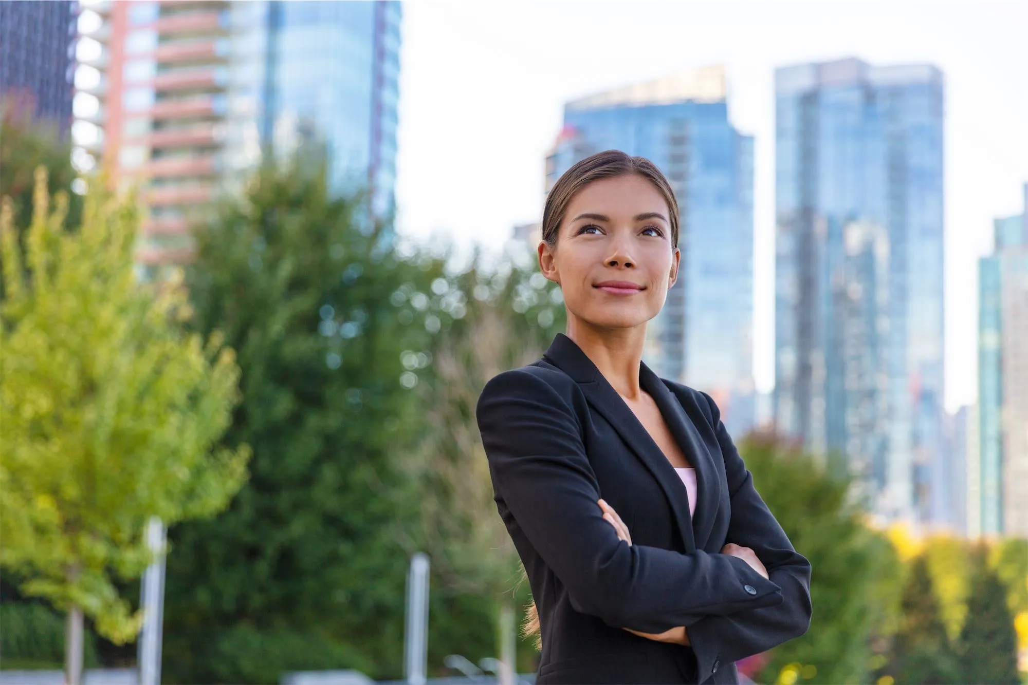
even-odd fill
[[[634,328],[656,316],[678,273],[669,218],[663,195],[636,174],[579,191],[556,245],[539,248],[543,274],[560,283],[568,315],[600,329]]]

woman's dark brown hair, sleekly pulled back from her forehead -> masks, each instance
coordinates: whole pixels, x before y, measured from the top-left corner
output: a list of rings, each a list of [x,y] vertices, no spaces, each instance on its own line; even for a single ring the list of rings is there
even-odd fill
[[[671,184],[667,182],[657,165],[646,157],[632,157],[621,150],[607,150],[586,157],[578,162],[553,184],[546,196],[543,211],[543,239],[550,245],[557,243],[560,223],[567,214],[567,205],[579,192],[593,181],[613,179],[618,176],[637,174],[647,179],[664,196],[667,210],[671,214],[671,246],[678,246],[678,201],[674,198]]]

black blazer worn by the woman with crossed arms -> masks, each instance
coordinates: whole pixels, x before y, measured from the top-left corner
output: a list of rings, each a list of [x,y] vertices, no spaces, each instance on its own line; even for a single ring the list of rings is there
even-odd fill
[[[737,659],[810,624],[810,563],[754,489],[713,401],[645,364],[639,382],[696,468],[693,519],[670,462],[566,336],[478,401],[497,508],[539,608],[540,685],[736,683]],[[631,546],[602,519],[600,497]],[[770,580],[720,554],[728,542],[751,547]],[[691,647],[621,630],[678,625]]]

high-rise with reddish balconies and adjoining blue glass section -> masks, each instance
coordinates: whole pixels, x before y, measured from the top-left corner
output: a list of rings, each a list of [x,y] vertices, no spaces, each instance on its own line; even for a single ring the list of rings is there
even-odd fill
[[[240,189],[272,150],[310,143],[334,190],[392,211],[397,2],[94,0],[79,48],[85,165],[141,183],[152,267],[188,260],[191,212]]]

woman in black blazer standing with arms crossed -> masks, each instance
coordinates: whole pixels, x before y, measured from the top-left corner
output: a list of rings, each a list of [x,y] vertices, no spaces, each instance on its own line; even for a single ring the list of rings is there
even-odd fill
[[[709,395],[641,363],[678,274],[677,203],[648,160],[585,159],[550,191],[539,263],[567,333],[500,374],[477,419],[538,606],[537,682],[736,683],[803,635],[810,564]]]

